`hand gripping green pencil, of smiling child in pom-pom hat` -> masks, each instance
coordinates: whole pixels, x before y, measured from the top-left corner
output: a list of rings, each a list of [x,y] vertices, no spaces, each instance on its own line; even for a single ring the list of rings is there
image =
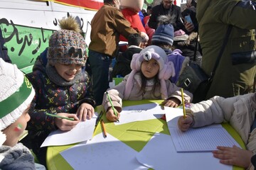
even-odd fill
[[[62,119],[62,118],[54,118],[54,123],[55,125],[63,131],[66,130],[72,130],[75,125],[77,125],[80,121],[78,117],[75,114],[71,113],[57,113],[57,115],[67,117],[67,118],[74,118],[75,120],[67,120],[67,119]]]

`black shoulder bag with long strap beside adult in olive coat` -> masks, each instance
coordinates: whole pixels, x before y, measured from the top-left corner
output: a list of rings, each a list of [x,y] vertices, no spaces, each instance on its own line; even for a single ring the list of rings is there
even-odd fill
[[[201,67],[198,64],[194,62],[189,62],[188,66],[183,70],[181,75],[178,77],[178,82],[176,85],[193,94],[193,103],[198,103],[200,101],[206,100],[206,94],[210,89],[210,84],[213,81],[215,70],[218,67],[220,57],[222,56],[223,51],[225,49],[225,45],[228,42],[228,37],[230,35],[231,28],[232,26],[228,26],[225,40],[223,41],[223,46],[221,47],[220,52],[218,54],[217,60],[213,67],[213,72],[211,72],[210,75],[207,75],[206,72],[204,72],[203,69],[201,69]],[[196,55],[194,55],[193,60],[196,60]]]

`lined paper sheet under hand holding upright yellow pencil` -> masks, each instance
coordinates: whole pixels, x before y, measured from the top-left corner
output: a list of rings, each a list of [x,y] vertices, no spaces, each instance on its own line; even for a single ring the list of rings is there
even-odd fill
[[[217,146],[240,147],[233,137],[220,125],[190,128],[186,132],[178,129],[177,115],[166,114],[166,121],[177,152],[212,152]]]

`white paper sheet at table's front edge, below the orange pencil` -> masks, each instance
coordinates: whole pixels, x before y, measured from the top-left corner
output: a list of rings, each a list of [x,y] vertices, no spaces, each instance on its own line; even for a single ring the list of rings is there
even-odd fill
[[[110,134],[98,134],[60,154],[73,169],[147,169],[137,161],[137,151]]]

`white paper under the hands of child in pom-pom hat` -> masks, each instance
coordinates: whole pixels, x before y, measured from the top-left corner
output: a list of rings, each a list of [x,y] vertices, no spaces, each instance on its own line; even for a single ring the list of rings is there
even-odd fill
[[[85,122],[80,122],[70,131],[55,130],[50,132],[41,147],[69,145],[92,139],[96,116]]]

